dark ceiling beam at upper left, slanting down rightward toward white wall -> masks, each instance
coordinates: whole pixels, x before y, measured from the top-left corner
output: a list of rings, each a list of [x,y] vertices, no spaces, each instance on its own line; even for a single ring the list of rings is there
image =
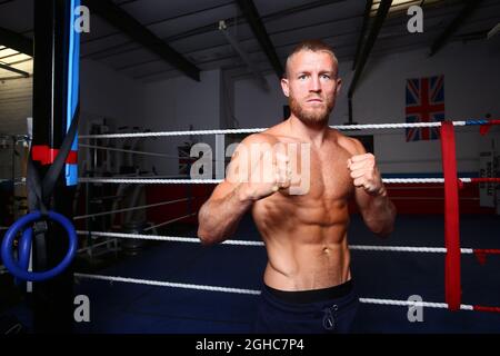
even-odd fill
[[[90,8],[91,12],[99,14],[109,24],[116,27],[188,77],[200,81],[200,69],[198,67],[158,38],[119,6],[110,0],[86,0],[84,3]]]

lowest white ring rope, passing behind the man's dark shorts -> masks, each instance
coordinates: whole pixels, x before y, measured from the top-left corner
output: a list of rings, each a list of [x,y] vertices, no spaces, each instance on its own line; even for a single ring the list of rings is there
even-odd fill
[[[256,296],[261,294],[261,291],[257,290],[257,289],[183,284],[183,283],[172,283],[172,281],[163,281],[163,280],[126,278],[126,277],[118,277],[118,276],[103,276],[103,275],[90,275],[90,274],[76,273],[74,277],[76,278],[94,279],[94,280],[109,280],[109,281],[140,284],[140,285],[146,285],[146,286],[171,287],[171,288],[208,290],[208,291],[221,291],[221,293],[230,293],[230,294],[246,294],[246,295],[256,295]],[[421,306],[421,307],[428,307],[428,308],[442,308],[442,309],[448,308],[448,304],[446,304],[446,303],[377,299],[377,298],[359,298],[359,301],[364,303],[364,304],[379,304],[379,305],[404,306],[404,307]],[[462,305],[460,305],[460,309],[473,310],[473,306],[462,304]]]

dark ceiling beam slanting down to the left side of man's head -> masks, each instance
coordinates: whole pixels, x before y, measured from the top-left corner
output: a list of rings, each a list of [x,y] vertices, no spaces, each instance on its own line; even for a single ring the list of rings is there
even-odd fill
[[[272,69],[274,69],[274,73],[278,76],[278,79],[281,79],[283,76],[283,66],[281,65],[278,55],[276,52],[274,46],[269,38],[268,32],[266,31],[266,27],[260,19],[259,12],[257,11],[256,6],[252,0],[238,0],[238,6],[243,12],[244,18],[247,19],[250,28],[252,29],[253,36],[256,36],[257,40],[260,43],[260,47],[264,51],[269,61],[271,62]]]

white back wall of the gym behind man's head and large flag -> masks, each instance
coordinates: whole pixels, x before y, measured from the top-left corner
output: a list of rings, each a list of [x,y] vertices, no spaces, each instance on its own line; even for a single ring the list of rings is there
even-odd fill
[[[500,51],[494,44],[498,42],[454,42],[431,58],[427,57],[427,50],[371,58],[354,96],[354,120],[359,123],[403,122],[406,80],[441,73],[444,75],[448,118],[482,118],[486,113],[499,118]],[[331,116],[332,125],[348,120],[350,62],[340,63],[340,76],[343,90]],[[81,132],[86,132],[86,122],[103,118],[114,128],[140,126],[152,131],[189,130],[190,126],[194,130],[224,128],[234,123],[232,116],[241,128],[269,127],[281,121],[282,107],[287,105],[274,75],[267,77],[271,88],[268,92],[252,79],[228,81],[221,70],[201,72],[200,82],[178,77],[141,83],[101,63],[82,60],[80,78]],[[24,119],[31,116],[31,79],[0,83],[0,130],[23,132]],[[19,100],[10,99],[12,95]],[[487,137],[480,137],[477,127],[457,131],[459,170],[477,171],[479,151],[492,146],[492,138],[500,135],[499,128],[493,128]],[[441,171],[439,141],[406,142],[403,130],[372,132],[383,172]],[[177,147],[190,139],[208,142],[214,149],[212,135],[149,139],[138,148],[176,155]],[[110,140],[108,144],[122,142]],[[500,142],[496,145],[500,147]],[[150,170],[152,165],[161,175],[178,172],[177,159],[147,159],[143,168]]]

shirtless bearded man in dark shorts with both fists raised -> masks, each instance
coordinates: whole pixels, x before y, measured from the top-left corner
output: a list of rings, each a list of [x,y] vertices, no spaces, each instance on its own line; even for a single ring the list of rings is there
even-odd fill
[[[240,147],[308,144],[309,171],[300,172],[309,175],[308,190],[290,194],[297,181],[287,154],[273,150],[271,166],[263,162],[264,151],[257,165],[249,164],[250,155],[233,155],[230,166],[250,167],[247,179],[231,174],[217,186],[200,209],[198,236],[203,244],[223,241],[251,210],[268,253],[256,332],[347,333],[359,303],[349,267],[348,200],[356,199],[366,225],[380,236],[392,231],[396,209],[373,155],[328,126],[341,87],[333,50],[304,41],[288,57],[286,70],[281,87],[290,117]],[[254,175],[262,167],[273,179]]]

